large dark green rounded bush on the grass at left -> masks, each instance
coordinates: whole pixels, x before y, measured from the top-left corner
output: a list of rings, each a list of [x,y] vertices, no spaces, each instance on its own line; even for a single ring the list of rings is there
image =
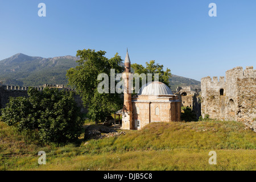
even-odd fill
[[[81,134],[82,119],[72,92],[28,89],[28,97],[11,97],[1,120],[19,131],[35,130],[43,142],[73,142]]]

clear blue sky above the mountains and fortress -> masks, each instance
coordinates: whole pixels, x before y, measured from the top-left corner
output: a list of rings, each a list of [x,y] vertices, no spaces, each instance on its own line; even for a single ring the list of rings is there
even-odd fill
[[[46,17],[38,4],[46,4]],[[209,3],[217,17],[210,17]],[[256,68],[256,1],[0,0],[0,60],[24,53],[55,57],[78,49],[155,60],[199,80],[237,66]]]

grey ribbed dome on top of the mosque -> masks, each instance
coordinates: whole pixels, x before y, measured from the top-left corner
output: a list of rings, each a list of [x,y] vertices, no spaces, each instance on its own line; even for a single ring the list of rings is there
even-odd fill
[[[159,81],[153,81],[143,85],[138,93],[138,95],[142,96],[159,96],[172,94],[172,90],[166,84]]]

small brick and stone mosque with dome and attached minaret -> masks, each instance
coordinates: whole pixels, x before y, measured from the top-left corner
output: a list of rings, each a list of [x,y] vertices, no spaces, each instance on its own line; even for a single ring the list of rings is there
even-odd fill
[[[128,51],[125,57],[124,102],[122,109],[122,129],[140,130],[151,122],[180,121],[181,101],[171,89],[162,82],[148,82],[142,86],[137,96],[131,97],[129,73],[131,62]]]

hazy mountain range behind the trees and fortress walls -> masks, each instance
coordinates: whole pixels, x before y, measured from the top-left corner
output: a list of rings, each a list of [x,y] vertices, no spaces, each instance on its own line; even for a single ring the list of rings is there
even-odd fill
[[[79,57],[38,57],[17,53],[0,61],[0,81],[4,85],[40,86],[43,84],[67,85],[66,73],[69,68],[76,67]],[[177,86],[192,86],[200,88],[200,81],[191,78],[172,75],[171,89]]]

